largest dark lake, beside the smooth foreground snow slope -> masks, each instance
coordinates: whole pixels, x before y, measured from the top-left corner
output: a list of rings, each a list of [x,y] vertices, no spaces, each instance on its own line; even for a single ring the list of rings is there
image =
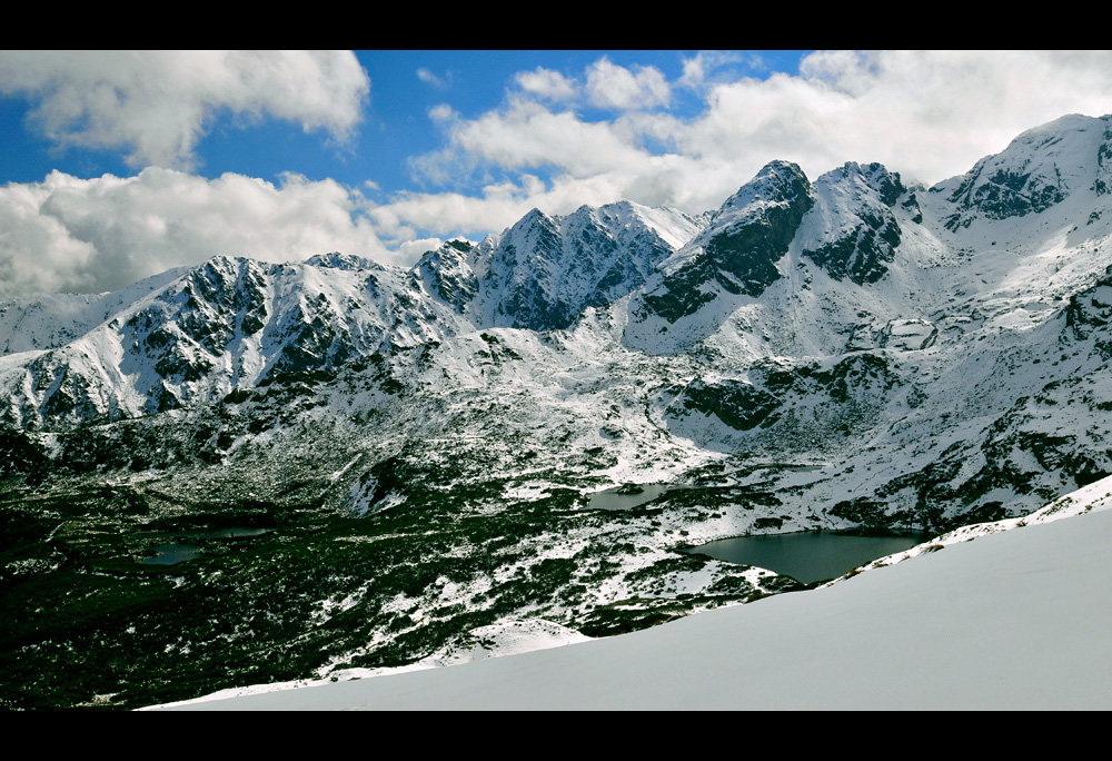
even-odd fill
[[[836,579],[858,565],[910,550],[930,534],[861,536],[833,531],[734,536],[683,552],[709,555],[741,565],[756,565],[792,576],[804,584]]]

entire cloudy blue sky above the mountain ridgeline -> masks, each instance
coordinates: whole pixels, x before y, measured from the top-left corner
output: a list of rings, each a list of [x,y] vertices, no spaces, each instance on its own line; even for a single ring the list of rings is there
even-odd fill
[[[0,298],[697,214],[773,159],[933,184],[1110,111],[1105,51],[0,51]]]

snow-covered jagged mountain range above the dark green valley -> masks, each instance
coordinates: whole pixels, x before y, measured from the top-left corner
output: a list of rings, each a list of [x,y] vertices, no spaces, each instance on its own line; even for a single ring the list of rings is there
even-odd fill
[[[10,302],[0,468],[235,462],[288,423],[266,389],[296,387],[353,451],[381,443],[368,416],[411,441],[512,426],[539,454],[506,474],[539,456],[614,483],[745,482],[790,463],[812,470],[766,487],[791,525],[1002,517],[1112,473],[1110,190],[1112,119],[1069,116],[932,188],[773,161],[697,217],[533,210],[409,269],[216,256]],[[157,452],[96,451],[112,426],[183,416],[208,416],[208,438],[162,426]],[[378,504],[373,461],[337,503]]]

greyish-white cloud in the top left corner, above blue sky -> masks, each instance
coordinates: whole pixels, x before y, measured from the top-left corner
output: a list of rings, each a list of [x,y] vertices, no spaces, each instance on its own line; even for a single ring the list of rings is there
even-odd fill
[[[0,51],[0,95],[36,103],[33,129],[63,148],[123,148],[133,167],[192,167],[220,109],[344,141],[369,91],[350,51]]]

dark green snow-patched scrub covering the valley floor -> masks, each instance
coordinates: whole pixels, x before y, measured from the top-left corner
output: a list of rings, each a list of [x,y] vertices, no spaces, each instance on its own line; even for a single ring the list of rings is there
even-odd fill
[[[483,471],[484,453],[468,454]],[[282,471],[254,483],[218,468],[3,482],[0,705],[138,708],[403,665],[503,620],[608,635],[784,586],[662,548],[662,525],[715,514],[692,507],[691,490],[626,513],[580,510],[572,488],[507,501],[507,478],[469,481],[403,452],[371,468],[390,506],[356,518],[319,496],[324,480]],[[266,496],[250,496],[265,482]],[[196,537],[226,527],[270,531]],[[139,562],[185,535],[202,547],[196,560]],[[694,572],[707,589],[677,593]]]

